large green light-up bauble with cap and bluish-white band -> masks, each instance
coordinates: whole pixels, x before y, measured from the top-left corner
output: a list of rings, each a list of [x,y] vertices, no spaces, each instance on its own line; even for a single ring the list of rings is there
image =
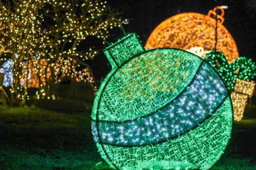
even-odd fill
[[[233,112],[212,66],[183,50],[145,51],[135,34],[104,54],[112,70],[94,101],[92,133],[111,167],[208,169],[218,161]]]

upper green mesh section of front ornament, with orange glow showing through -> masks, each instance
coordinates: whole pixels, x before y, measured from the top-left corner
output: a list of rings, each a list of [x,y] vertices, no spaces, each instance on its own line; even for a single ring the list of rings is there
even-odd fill
[[[184,90],[201,62],[170,49],[132,59],[113,74],[102,92],[99,120],[129,120],[155,112]]]

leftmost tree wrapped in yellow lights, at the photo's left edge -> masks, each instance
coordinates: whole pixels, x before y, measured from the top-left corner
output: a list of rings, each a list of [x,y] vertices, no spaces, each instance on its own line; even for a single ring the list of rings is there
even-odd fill
[[[0,39],[5,39],[0,56],[1,61],[12,61],[12,103],[20,104],[29,99],[27,87],[24,86],[28,84],[29,71],[23,71],[24,62],[36,56],[45,56],[47,37],[41,30],[42,15],[39,10],[46,3],[44,0],[0,2],[0,22],[5,31],[0,35]]]

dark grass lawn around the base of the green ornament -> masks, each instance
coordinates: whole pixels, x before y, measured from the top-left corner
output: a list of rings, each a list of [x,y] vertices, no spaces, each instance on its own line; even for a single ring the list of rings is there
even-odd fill
[[[212,169],[256,169],[256,106],[234,123],[225,154]],[[0,169],[110,169],[97,152],[90,113],[0,106]]]

